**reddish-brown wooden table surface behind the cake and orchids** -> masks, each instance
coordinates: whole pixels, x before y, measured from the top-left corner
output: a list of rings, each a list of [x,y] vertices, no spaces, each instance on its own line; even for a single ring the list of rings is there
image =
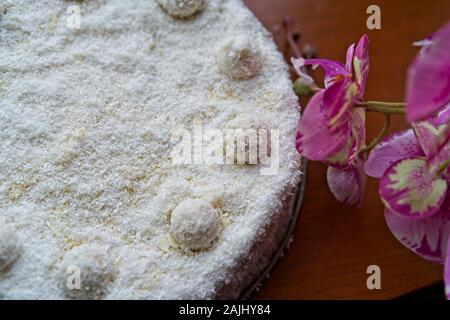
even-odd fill
[[[344,60],[351,42],[367,33],[371,69],[366,100],[402,101],[405,72],[423,39],[450,19],[448,0],[246,0],[268,30],[290,16],[301,43],[320,57]],[[366,28],[366,9],[381,8],[381,30]],[[282,39],[276,36],[278,43]],[[368,114],[368,140],[383,123]],[[401,116],[391,131],[407,126]],[[366,268],[379,265],[381,289],[368,290]],[[326,167],[310,162],[300,221],[291,250],[278,263],[257,299],[387,299],[441,281],[442,267],[403,247],[390,233],[378,197],[378,181],[369,179],[362,208],[336,201],[326,185]]]

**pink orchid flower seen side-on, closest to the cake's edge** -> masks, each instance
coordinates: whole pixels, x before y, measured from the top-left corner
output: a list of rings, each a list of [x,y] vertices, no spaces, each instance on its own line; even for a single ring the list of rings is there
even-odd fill
[[[366,35],[352,44],[346,64],[327,59],[292,59],[304,83],[314,80],[304,67],[320,66],[325,71],[325,89],[309,101],[297,131],[297,150],[306,158],[326,163],[327,181],[339,201],[361,203],[366,175],[364,157],[365,112],[355,104],[362,102],[369,72],[369,40]]]

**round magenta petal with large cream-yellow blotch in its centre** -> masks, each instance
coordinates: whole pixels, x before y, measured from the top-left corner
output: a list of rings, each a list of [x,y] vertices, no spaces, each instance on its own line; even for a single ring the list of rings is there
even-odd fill
[[[380,196],[386,207],[406,218],[435,214],[446,194],[447,181],[420,157],[394,163],[380,180]]]

